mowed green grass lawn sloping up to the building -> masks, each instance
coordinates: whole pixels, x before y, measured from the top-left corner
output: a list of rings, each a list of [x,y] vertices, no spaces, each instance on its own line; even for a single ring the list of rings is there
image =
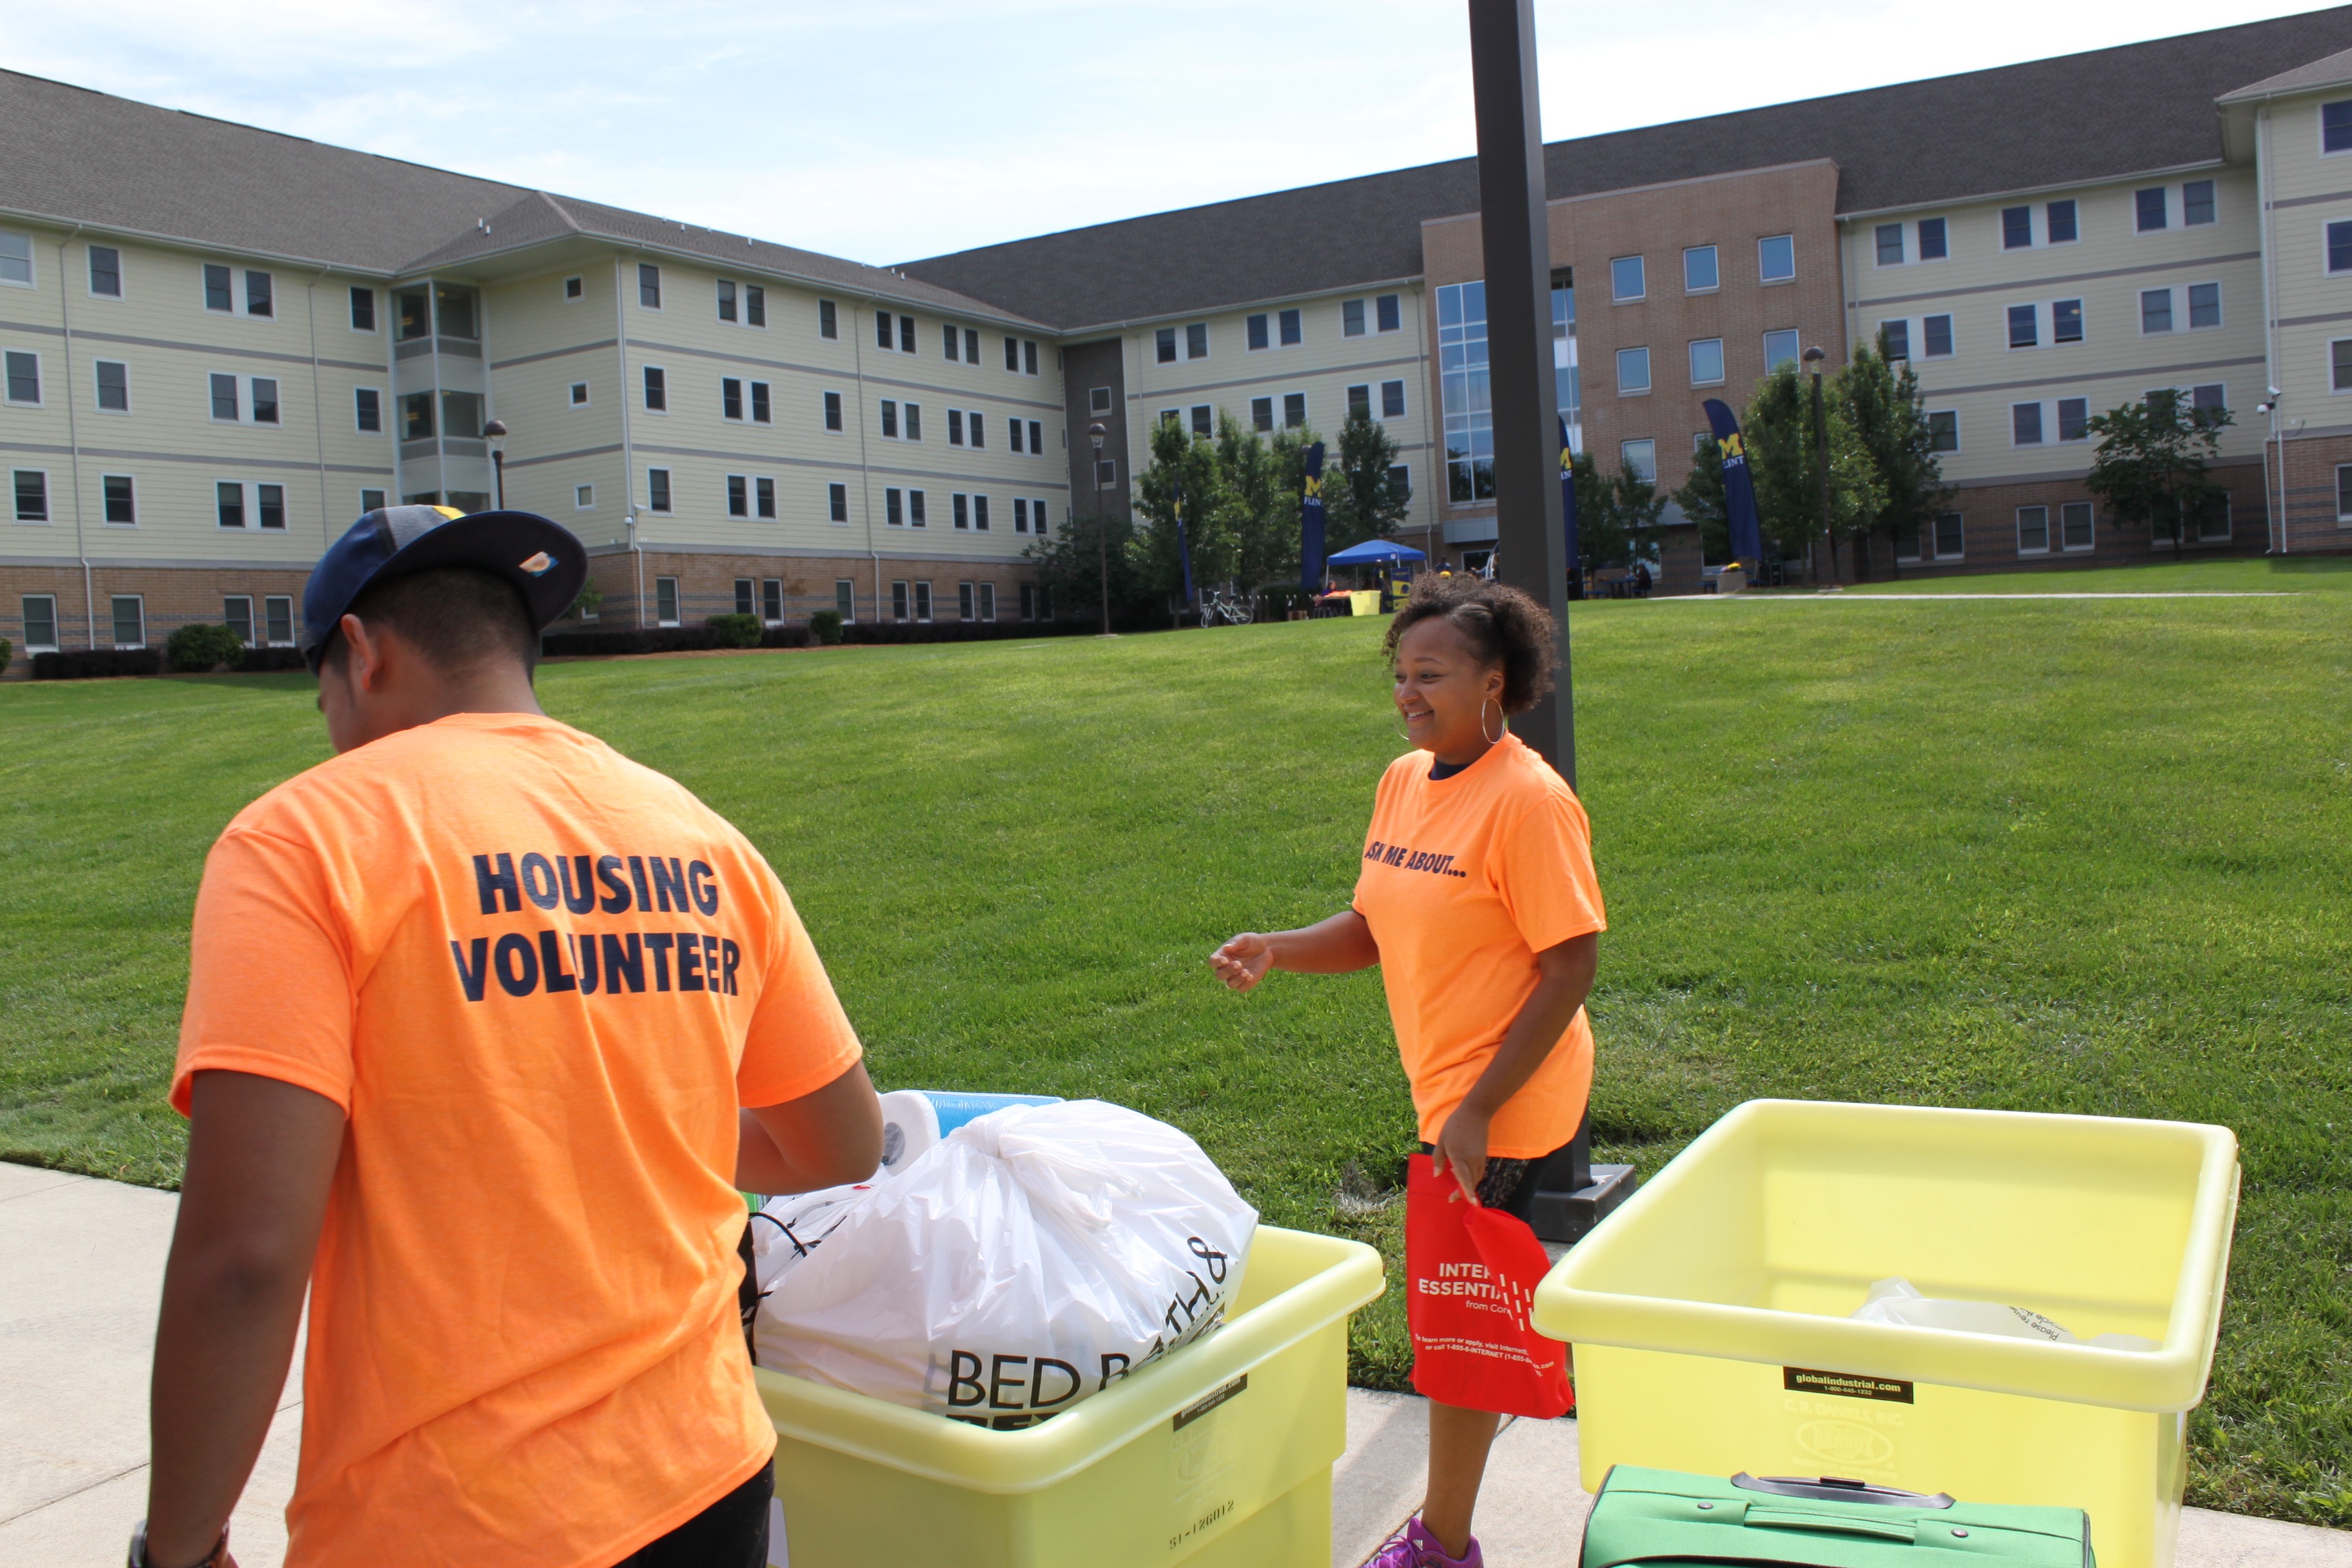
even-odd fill
[[[2352,585],[2300,571],[2131,581]],[[1237,999],[1204,961],[1348,898],[1399,750],[1378,632],[564,663],[541,689],[769,853],[884,1086],[1122,1100],[1268,1220],[1395,1253],[1395,1215],[1334,1208],[1414,1143],[1376,976]],[[2338,592],[1578,607],[1602,1154],[1656,1171],[1752,1095],[2227,1124],[2246,1192],[2190,1495],[2352,1526],[2347,663]],[[294,677],[0,691],[0,1154],[176,1180],[205,846],[320,757]],[[1355,1349],[1359,1380],[1402,1375],[1395,1293]]]

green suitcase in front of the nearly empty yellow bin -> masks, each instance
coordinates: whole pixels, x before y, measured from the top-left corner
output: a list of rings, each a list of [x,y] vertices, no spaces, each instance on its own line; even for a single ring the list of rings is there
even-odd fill
[[[2082,1509],[1955,1502],[1863,1481],[1611,1465],[1578,1568],[2093,1568]]]

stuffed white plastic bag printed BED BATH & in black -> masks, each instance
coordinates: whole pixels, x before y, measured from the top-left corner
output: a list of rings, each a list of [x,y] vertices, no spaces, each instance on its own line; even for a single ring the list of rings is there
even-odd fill
[[[1197,1143],[1103,1100],[1000,1110],[788,1204],[790,1239],[755,1239],[760,1366],[990,1427],[1216,1331],[1258,1225]]]

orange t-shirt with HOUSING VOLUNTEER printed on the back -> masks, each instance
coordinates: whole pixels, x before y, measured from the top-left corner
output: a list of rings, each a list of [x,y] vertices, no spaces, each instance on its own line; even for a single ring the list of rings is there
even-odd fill
[[[609,1568],[767,1462],[736,1105],[856,1060],[760,851],[555,719],[454,715],[240,811],[172,1105],[226,1067],[348,1117],[287,1561]]]

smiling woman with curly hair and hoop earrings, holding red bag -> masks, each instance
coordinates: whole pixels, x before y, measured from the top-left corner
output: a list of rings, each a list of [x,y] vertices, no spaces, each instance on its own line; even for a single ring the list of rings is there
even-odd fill
[[[1381,776],[1350,907],[1301,931],[1244,931],[1211,957],[1237,992],[1270,969],[1378,964],[1423,1152],[1519,1220],[1585,1117],[1583,1009],[1606,926],[1585,809],[1508,726],[1550,691],[1552,646],[1552,618],[1517,588],[1423,578],[1388,628],[1414,750]],[[1482,1561],[1470,1514],[1496,1425],[1430,1401],[1421,1514],[1367,1568]]]

